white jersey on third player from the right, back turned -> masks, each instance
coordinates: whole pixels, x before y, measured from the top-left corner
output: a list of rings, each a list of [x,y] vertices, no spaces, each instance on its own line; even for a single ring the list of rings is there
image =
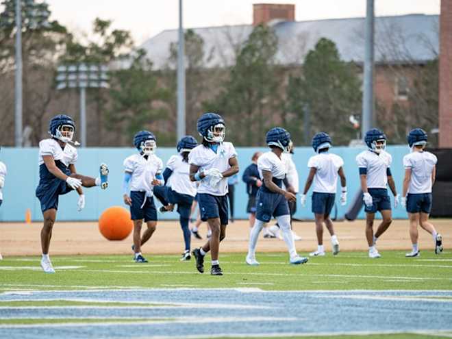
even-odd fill
[[[336,193],[338,186],[338,171],[344,166],[344,160],[333,153],[320,153],[314,155],[307,162],[307,167],[316,168],[312,192]]]

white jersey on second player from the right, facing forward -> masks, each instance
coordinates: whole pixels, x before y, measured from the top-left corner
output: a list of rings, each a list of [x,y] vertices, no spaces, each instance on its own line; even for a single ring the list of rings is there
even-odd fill
[[[377,153],[367,150],[356,156],[358,167],[367,168],[367,188],[386,188],[388,185],[388,175],[386,170],[390,168],[392,156],[381,151]]]

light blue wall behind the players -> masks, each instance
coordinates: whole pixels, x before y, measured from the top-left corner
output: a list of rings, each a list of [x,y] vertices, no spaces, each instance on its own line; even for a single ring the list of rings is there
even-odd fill
[[[236,218],[247,218],[247,194],[244,183],[241,180],[244,168],[251,162],[251,156],[255,151],[266,151],[266,149],[256,149],[251,147],[240,147],[238,151],[238,162],[240,165],[240,183],[236,186],[235,214]],[[353,199],[355,192],[359,189],[360,181],[358,177],[355,156],[363,149],[349,147],[334,147],[334,153],[344,159],[344,171],[347,175],[347,187],[349,189],[349,202]],[[99,164],[105,162],[110,168],[110,179],[107,190],[99,188],[85,188],[86,207],[83,211],[77,212],[77,194],[68,193],[60,197],[58,209],[58,220],[60,221],[92,221],[97,220],[105,208],[112,205],[123,205],[122,182],[123,182],[123,160],[132,153],[134,149],[129,148],[86,148],[79,149],[79,160],[76,164],[77,172],[96,177],[99,171]],[[398,192],[401,191],[403,180],[403,155],[409,153],[407,146],[389,146],[388,152],[392,154],[392,174],[396,181]],[[175,153],[173,148],[158,148],[157,155],[162,158],[164,164],[171,155]],[[314,155],[312,148],[297,147],[294,154],[294,162],[297,165],[300,176],[300,190],[303,189],[307,176],[307,160]],[[38,149],[25,148],[15,149],[2,147],[0,160],[8,167],[8,175],[3,188],[3,205],[0,207],[0,221],[24,221],[25,211],[29,208],[32,211],[32,220],[42,220],[40,204],[35,197],[35,189],[38,185]],[[308,193],[310,196],[311,193]],[[391,194],[390,194],[391,195]],[[336,199],[337,201],[338,199]],[[347,206],[342,207],[339,203],[338,216],[343,216]],[[297,218],[312,218],[310,212],[310,199],[307,199],[306,208],[297,206]],[[406,212],[401,208],[394,210],[394,218],[406,218]],[[364,212],[359,218],[364,217]],[[162,219],[178,218],[176,213],[160,214]]]

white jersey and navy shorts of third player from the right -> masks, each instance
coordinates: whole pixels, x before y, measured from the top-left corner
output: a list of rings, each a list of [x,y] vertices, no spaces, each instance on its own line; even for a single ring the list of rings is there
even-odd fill
[[[307,162],[307,167],[316,168],[312,186],[312,212],[329,215],[334,206],[338,171],[344,166],[339,155],[322,152],[314,155]]]

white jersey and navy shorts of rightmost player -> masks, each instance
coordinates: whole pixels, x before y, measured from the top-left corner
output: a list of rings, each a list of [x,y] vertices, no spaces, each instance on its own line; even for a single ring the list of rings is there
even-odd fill
[[[410,186],[407,191],[407,212],[430,213],[431,211],[431,173],[438,158],[436,155],[419,151],[403,157],[403,167],[411,169]]]

